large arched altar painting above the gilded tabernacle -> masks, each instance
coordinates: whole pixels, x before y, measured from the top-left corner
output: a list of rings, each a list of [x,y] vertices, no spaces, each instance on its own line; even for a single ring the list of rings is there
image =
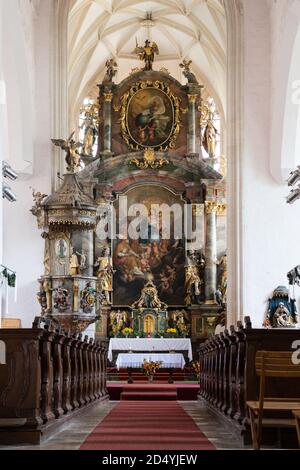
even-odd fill
[[[159,298],[168,305],[184,304],[184,265],[185,242],[174,231],[175,225],[183,225],[184,201],[176,195],[157,185],[143,185],[133,188],[126,194],[128,207],[132,204],[143,204],[147,209],[146,221],[140,224],[138,238],[129,235],[114,241],[113,250],[113,303],[114,305],[132,305],[141,293],[145,275],[149,272],[154,277]],[[162,213],[158,206],[170,210],[170,236],[162,232]],[[118,214],[118,201],[116,213]],[[157,211],[157,212],[156,212]],[[117,221],[119,217],[117,216]],[[127,217],[128,226],[132,217]],[[118,223],[118,222],[117,222]]]

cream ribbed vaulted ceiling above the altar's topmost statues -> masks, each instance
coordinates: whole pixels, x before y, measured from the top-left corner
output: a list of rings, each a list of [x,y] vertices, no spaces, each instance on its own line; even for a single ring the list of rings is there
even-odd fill
[[[147,13],[152,23],[145,22]],[[149,24],[150,23],[150,24]],[[226,20],[223,0],[73,0],[68,28],[70,117],[103,77],[105,62],[115,57],[125,78],[141,63],[136,41],[149,38],[160,54],[154,69],[167,68],[185,83],[179,63],[192,71],[215,98],[220,111],[226,96]],[[72,119],[72,118],[71,118]]]

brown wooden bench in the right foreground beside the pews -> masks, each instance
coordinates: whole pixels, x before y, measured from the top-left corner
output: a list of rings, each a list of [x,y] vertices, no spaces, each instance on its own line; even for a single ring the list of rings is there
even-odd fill
[[[258,351],[255,358],[255,369],[260,377],[258,401],[247,401],[250,414],[251,434],[254,449],[260,449],[263,427],[295,427],[292,413],[300,414],[300,398],[271,398],[265,396],[266,379],[279,377],[284,379],[299,378],[300,365],[292,362],[293,351]],[[287,381],[286,386],[289,387]],[[274,412],[275,417],[265,418],[264,412]],[[277,413],[276,413],[277,412]],[[290,412],[291,419],[281,418],[278,414]],[[295,415],[295,416],[296,416]],[[299,419],[297,421],[299,426]],[[298,436],[299,437],[299,436]]]

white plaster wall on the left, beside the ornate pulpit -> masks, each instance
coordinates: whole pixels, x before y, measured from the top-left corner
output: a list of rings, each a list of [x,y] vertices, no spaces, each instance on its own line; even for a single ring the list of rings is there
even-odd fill
[[[22,2],[26,5],[22,5]],[[18,201],[14,204],[4,201],[3,234],[3,262],[16,270],[18,277],[17,302],[14,302],[11,291],[8,316],[21,318],[22,326],[28,327],[34,316],[40,313],[36,292],[37,279],[43,273],[43,241],[35,218],[29,212],[32,206],[30,187],[49,194],[51,185],[49,28],[51,0],[40,2],[38,10],[32,8],[31,2],[27,0],[20,1],[21,10],[18,1],[1,3],[5,21],[9,22],[14,34],[12,42],[9,42],[7,37],[10,34],[9,28],[4,31],[7,58],[13,52],[11,47],[17,48],[20,53],[20,41],[25,50],[27,46],[30,49],[30,54],[25,54],[18,64],[19,83],[16,87],[19,94],[13,101],[10,96],[7,97],[8,110],[18,109],[19,122],[24,132],[20,128],[14,129],[10,124],[8,160],[19,171],[19,179],[13,183]],[[35,2],[34,6],[37,7],[38,2]],[[24,14],[29,17],[25,19]],[[18,59],[18,55],[13,57],[15,61]],[[8,62],[7,67],[4,67],[4,75],[6,82],[13,85],[14,77],[11,74],[12,68]],[[34,103],[32,107],[28,107],[29,97]],[[30,128],[27,126],[28,123]],[[13,158],[15,145],[19,146],[22,160]],[[27,175],[22,166],[24,161],[33,163]],[[21,163],[21,166],[18,166],[18,163]],[[5,309],[3,313],[6,314]]]

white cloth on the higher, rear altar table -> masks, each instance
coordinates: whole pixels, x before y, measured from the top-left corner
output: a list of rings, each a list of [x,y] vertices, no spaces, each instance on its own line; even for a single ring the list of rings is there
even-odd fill
[[[111,338],[108,347],[110,361],[113,351],[188,351],[189,360],[193,360],[190,338]]]

